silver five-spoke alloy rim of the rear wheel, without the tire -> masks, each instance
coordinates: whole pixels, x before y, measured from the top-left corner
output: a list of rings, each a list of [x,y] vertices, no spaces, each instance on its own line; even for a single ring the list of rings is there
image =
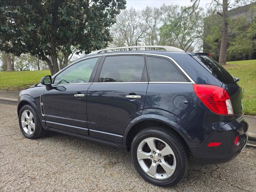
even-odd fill
[[[150,137],[140,142],[137,158],[142,170],[158,180],[169,178],[176,168],[172,148],[163,140]]]

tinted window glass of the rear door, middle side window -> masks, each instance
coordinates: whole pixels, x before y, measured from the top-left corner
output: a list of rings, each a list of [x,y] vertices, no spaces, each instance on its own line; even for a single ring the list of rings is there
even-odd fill
[[[147,82],[144,56],[108,56],[99,82]]]

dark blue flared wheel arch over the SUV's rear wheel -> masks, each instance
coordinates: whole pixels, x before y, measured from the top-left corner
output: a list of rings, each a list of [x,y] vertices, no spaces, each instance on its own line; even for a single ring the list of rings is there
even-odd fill
[[[135,118],[126,127],[123,136],[123,144],[126,146],[127,150],[130,150],[132,140],[138,132],[155,125],[164,126],[167,130],[170,130],[172,133],[176,134],[176,136],[178,136],[180,140],[184,142],[188,150],[190,150],[191,146],[194,146],[194,142],[188,133],[176,122],[174,122],[174,120],[170,120],[169,118],[160,115],[146,114]]]

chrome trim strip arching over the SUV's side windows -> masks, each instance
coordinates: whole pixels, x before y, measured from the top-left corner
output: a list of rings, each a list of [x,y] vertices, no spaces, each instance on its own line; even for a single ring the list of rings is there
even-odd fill
[[[89,58],[94,58],[94,57],[100,57],[100,56],[106,56],[106,55],[151,55],[151,56],[159,56],[159,57],[165,57],[170,59],[172,62],[174,62],[174,64],[182,71],[182,73],[190,80],[190,83],[192,84],[196,84],[194,82],[194,80],[182,69],[182,67],[171,57],[166,56],[166,55],[160,55],[160,54],[152,54],[152,53],[108,53],[108,54],[101,54],[101,55],[94,55],[94,56],[88,56],[86,58],[81,58],[79,60],[74,61],[73,63],[69,64],[68,66],[64,67],[62,70],[60,70],[59,72],[57,72],[56,74],[54,74],[52,76],[52,78],[54,78],[55,76],[57,76],[58,74],[60,74],[62,71],[64,71],[66,68],[82,61],[82,60],[86,60]],[[97,83],[105,83],[105,82],[97,82]],[[113,82],[112,82],[113,83]],[[114,82],[117,83],[117,82]],[[126,83],[126,82],[121,82],[121,83]],[[127,83],[131,83],[131,82],[127,82]],[[144,83],[144,82],[142,82]],[[188,82],[183,82],[183,83],[188,83]],[[75,83],[77,84],[77,83]],[[87,84],[87,83],[86,83]],[[57,85],[57,84],[53,84],[53,85]],[[64,85],[64,84],[58,84],[58,85]]]

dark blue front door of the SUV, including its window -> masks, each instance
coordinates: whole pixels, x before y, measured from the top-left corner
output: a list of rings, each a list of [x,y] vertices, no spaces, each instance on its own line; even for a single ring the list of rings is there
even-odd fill
[[[46,126],[88,135],[86,94],[99,61],[85,58],[53,78],[43,94]]]

